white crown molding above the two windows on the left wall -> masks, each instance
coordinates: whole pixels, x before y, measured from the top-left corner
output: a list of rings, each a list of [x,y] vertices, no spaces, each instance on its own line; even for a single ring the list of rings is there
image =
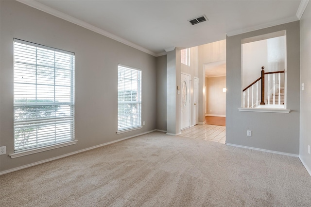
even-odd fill
[[[121,43],[123,43],[123,44],[125,44],[127,46],[130,46],[132,48],[135,48],[135,49],[137,49],[139,51],[146,52],[147,54],[153,55],[155,57],[157,56],[157,54],[155,52],[152,52],[152,51],[150,51],[150,50],[148,50],[146,48],[143,48],[143,47],[141,47],[141,46],[139,46],[139,45],[137,45],[137,44],[135,44],[133,42],[130,42],[130,41],[126,40],[126,39],[123,39],[123,38],[121,38],[121,37],[119,37],[117,35],[113,35],[111,33],[108,33],[107,31],[104,31],[104,30],[102,30],[102,29],[100,29],[98,27],[95,27],[95,26],[93,26],[91,24],[88,24],[88,23],[86,23],[86,22],[84,22],[82,20],[79,20],[79,19],[75,18],[75,17],[71,17],[71,16],[69,16],[69,15],[67,15],[65,13],[57,11],[56,9],[52,9],[51,7],[46,6],[46,5],[42,4],[42,3],[39,3],[39,2],[37,2],[35,0],[17,0],[17,1],[19,1],[19,2],[21,2],[23,4],[26,4],[28,6],[31,6],[31,7],[35,8],[35,9],[41,10],[41,11],[43,11],[45,13],[50,14],[50,15],[53,15],[55,17],[62,18],[62,19],[66,20],[66,21],[69,21],[69,22],[71,22],[73,24],[76,24],[76,25],[79,25],[81,27],[84,27],[84,28],[86,28],[86,29],[88,29],[90,31],[93,31],[93,32],[96,32],[98,34],[101,34],[101,35],[104,35],[106,37],[109,37],[109,38],[111,38],[113,40],[121,42]]]

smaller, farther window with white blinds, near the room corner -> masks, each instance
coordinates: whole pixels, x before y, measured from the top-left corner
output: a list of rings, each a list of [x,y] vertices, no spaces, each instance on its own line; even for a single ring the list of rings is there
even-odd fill
[[[118,132],[141,127],[141,70],[118,66]]]

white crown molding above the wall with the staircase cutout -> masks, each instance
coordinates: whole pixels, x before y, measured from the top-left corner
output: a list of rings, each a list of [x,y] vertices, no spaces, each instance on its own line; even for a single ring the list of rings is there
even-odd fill
[[[280,19],[280,20],[276,20],[276,21],[271,21],[271,22],[264,23],[264,24],[259,24],[259,25],[253,26],[253,27],[247,27],[244,29],[230,31],[230,32],[227,32],[226,34],[228,36],[240,35],[243,33],[248,33],[248,32],[252,32],[252,31],[256,31],[256,30],[260,30],[260,29],[264,29],[264,28],[268,28],[268,27],[273,27],[273,26],[277,26],[280,24],[286,24],[286,23],[290,23],[290,22],[298,21],[298,20],[299,20],[298,17],[294,16],[294,17],[289,17],[289,18]]]

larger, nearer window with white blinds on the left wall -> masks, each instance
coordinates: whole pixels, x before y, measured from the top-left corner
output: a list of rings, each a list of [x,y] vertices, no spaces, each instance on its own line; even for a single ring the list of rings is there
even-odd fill
[[[74,140],[74,53],[14,39],[15,152]]]

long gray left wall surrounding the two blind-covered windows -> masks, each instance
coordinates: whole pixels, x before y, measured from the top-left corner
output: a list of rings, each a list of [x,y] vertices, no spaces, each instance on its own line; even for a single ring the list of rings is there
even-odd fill
[[[0,1],[0,171],[72,153],[156,128],[156,58],[17,1]],[[13,38],[75,52],[77,144],[11,159],[13,146]],[[142,129],[117,131],[118,63],[142,70]]]

